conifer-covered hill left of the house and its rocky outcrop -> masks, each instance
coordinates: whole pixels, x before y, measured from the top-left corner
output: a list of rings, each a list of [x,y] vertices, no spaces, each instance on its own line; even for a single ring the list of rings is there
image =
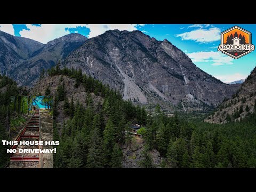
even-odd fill
[[[125,132],[131,131],[131,122],[146,124],[146,110],[124,101],[121,94],[83,75],[81,70],[60,69],[57,65],[49,75],[62,76],[57,89],[49,90],[54,93],[53,137],[60,140],[54,167],[121,167],[121,146],[129,140]],[[64,84],[67,77],[75,79],[70,86],[85,88],[84,103],[67,97],[71,89]],[[61,113],[67,121],[60,121]]]

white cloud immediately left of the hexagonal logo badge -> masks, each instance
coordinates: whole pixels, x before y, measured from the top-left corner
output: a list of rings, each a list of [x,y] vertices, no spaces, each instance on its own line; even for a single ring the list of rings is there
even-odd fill
[[[196,29],[176,35],[182,40],[193,40],[199,43],[214,42],[220,40],[220,29],[213,27],[210,29]]]

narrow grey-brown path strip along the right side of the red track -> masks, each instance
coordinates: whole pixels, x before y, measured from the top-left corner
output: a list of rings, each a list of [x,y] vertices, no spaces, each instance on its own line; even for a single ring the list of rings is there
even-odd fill
[[[49,111],[40,111],[41,114],[41,139],[43,141],[53,140],[53,127],[52,127],[52,116]],[[43,145],[43,149],[52,149],[52,146]],[[44,158],[44,168],[53,167],[53,154],[43,154]]]

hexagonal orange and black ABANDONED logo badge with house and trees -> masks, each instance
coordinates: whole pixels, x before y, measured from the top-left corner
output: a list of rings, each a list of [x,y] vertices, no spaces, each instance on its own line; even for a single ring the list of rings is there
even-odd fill
[[[252,34],[241,27],[235,26],[221,33],[221,44],[218,51],[238,59],[255,49]]]

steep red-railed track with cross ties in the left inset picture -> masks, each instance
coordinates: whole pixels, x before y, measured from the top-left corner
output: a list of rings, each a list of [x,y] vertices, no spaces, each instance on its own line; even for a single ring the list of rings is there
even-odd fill
[[[41,121],[40,121],[40,112],[39,109],[35,111],[33,116],[29,119],[27,124],[23,127],[21,132],[15,138],[14,141],[20,142],[20,140],[41,140]],[[25,146],[13,145],[12,149],[23,148]],[[28,146],[32,147],[32,146]],[[37,147],[37,146],[36,146]],[[38,148],[42,149],[42,146],[38,145]],[[18,150],[17,150],[18,151]],[[29,154],[31,155],[31,154]],[[29,156],[29,155],[21,155],[19,153],[11,154],[10,160],[11,162],[37,162],[38,167],[43,168],[43,154],[39,153],[37,156]]]

